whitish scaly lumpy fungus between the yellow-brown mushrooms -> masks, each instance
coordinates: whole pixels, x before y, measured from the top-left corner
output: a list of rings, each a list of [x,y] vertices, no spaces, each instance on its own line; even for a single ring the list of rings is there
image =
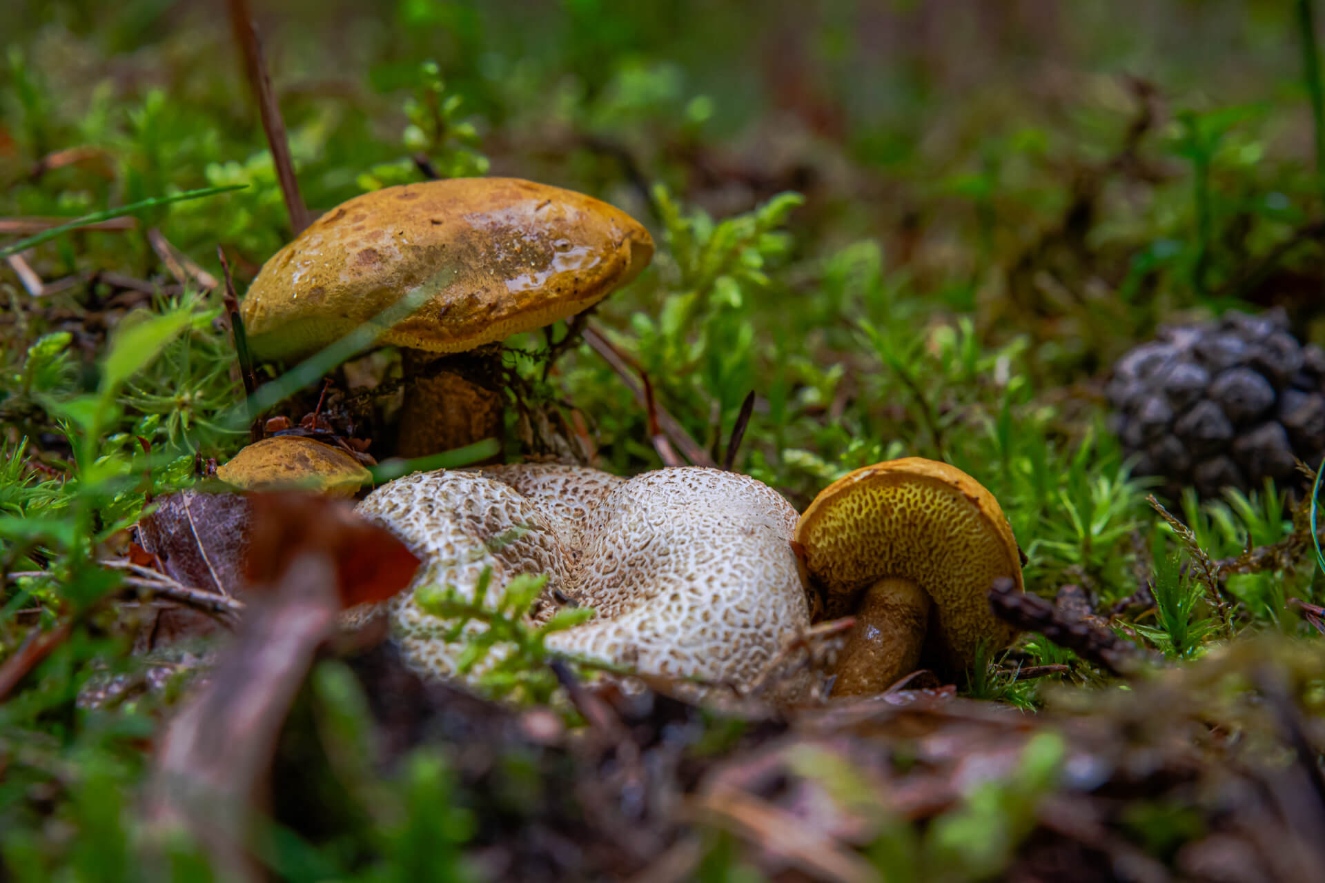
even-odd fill
[[[677,467],[620,479],[535,463],[439,470],[376,488],[359,511],[424,561],[386,609],[405,659],[425,675],[453,675],[462,645],[440,637],[413,590],[452,585],[476,600],[485,568],[488,605],[511,577],[546,573],[535,621],[551,616],[556,596],[596,612],[551,634],[549,646],[641,674],[749,687],[810,624],[791,547],[796,512],[746,475]]]

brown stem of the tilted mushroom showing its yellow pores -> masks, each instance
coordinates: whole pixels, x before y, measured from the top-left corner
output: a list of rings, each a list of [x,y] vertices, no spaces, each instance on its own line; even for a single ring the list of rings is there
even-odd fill
[[[832,695],[880,694],[918,669],[931,604],[922,588],[901,577],[888,576],[865,589],[856,626],[837,657]]]

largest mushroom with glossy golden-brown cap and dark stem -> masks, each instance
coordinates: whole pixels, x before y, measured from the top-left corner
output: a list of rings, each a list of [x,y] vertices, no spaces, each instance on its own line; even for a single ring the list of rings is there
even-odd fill
[[[652,256],[648,230],[582,193],[510,177],[403,184],[343,203],[277,252],[242,319],[261,359],[380,324],[376,342],[405,356],[398,453],[420,457],[504,434],[497,356],[425,371],[431,360],[582,312]]]

